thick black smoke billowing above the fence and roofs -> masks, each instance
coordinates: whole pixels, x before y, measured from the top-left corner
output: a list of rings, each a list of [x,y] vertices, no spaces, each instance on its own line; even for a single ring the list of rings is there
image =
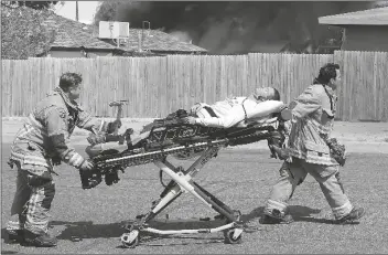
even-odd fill
[[[103,3],[104,4],[104,3]],[[370,1],[141,1],[120,2],[115,20],[131,28],[161,29],[216,54],[273,52],[285,43],[302,44],[341,36],[317,18],[365,10]],[[340,34],[340,35],[338,35]]]

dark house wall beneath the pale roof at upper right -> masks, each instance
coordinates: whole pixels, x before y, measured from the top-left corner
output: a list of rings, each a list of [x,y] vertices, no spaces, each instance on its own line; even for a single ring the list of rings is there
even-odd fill
[[[344,51],[388,52],[388,25],[349,25],[345,28]]]

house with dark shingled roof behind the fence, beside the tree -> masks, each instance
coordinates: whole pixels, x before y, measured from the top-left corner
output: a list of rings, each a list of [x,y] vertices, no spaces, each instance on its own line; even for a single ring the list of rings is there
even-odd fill
[[[204,54],[207,51],[158,30],[129,29],[129,38],[117,41],[98,39],[98,28],[53,14],[47,26],[57,30],[50,55],[53,57],[161,56],[168,54]]]

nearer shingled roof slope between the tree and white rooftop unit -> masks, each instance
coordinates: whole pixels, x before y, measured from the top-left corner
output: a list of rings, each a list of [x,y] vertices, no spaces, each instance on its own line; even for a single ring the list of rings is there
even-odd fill
[[[56,31],[52,47],[80,47],[93,50],[115,50],[116,46],[106,43],[96,36],[89,25],[57,15],[51,14],[44,22],[47,29]]]

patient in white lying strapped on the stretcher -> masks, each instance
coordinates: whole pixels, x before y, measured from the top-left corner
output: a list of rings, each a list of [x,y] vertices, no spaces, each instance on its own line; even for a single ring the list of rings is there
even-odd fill
[[[213,105],[205,103],[195,104],[188,111],[188,116],[182,118],[182,124],[200,125],[215,128],[244,128],[250,123],[263,121],[271,117],[271,114],[279,113],[284,108],[284,104],[280,100],[279,92],[272,87],[256,88],[248,97],[233,97]],[[148,125],[147,125],[148,126]],[[131,134],[130,140],[132,147],[138,142],[147,139],[150,130],[144,126],[140,134]],[[152,126],[152,125],[151,125]],[[96,138],[96,136],[95,136]],[[97,137],[98,138],[98,137]],[[127,144],[109,141],[108,136],[99,139],[89,138],[90,146],[86,148],[86,152],[90,157],[98,156],[101,151],[115,149],[125,151],[128,149]],[[121,145],[120,145],[121,144]]]

